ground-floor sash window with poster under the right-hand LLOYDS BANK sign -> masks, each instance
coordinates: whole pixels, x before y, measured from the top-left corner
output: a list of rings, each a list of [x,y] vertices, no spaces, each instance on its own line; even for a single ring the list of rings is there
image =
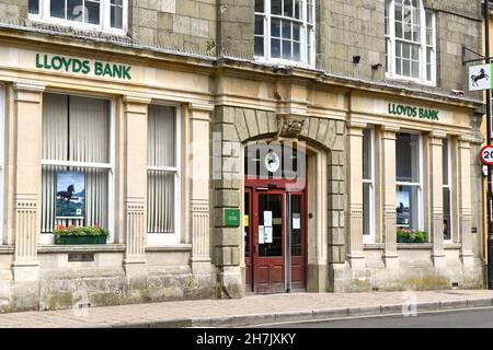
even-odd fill
[[[423,230],[421,135],[399,132],[395,140],[397,226]]]

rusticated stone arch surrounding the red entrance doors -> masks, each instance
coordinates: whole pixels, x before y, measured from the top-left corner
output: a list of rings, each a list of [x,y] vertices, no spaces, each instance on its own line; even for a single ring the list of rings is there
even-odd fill
[[[289,117],[287,117],[289,119]],[[323,196],[317,198],[318,235],[313,242],[313,257],[309,261],[307,288],[313,292],[333,290],[331,267],[345,260],[345,124],[343,120],[320,117],[296,117],[303,120],[298,139],[307,141],[312,166],[317,166],[312,182],[322,178]],[[249,140],[273,139],[279,133],[283,120],[274,112],[232,106],[218,106],[214,116],[214,240],[213,261],[218,267],[218,292],[227,298],[244,295],[241,271],[241,228],[225,226],[225,210],[242,207],[243,144]],[[217,162],[213,162],[217,163]],[[314,165],[317,164],[317,165]],[[323,180],[325,179],[325,180]],[[313,196],[316,194],[313,192]],[[319,219],[317,219],[319,220]],[[323,233],[326,233],[323,238]],[[320,246],[319,246],[320,245]],[[320,250],[323,247],[323,252]],[[326,249],[325,249],[326,248]],[[310,248],[309,248],[310,249]],[[316,252],[317,250],[317,252]],[[309,256],[310,257],[310,256]]]

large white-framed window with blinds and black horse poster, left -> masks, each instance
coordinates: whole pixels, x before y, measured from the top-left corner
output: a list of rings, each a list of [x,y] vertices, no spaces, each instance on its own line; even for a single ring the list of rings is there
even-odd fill
[[[43,95],[42,233],[57,225],[99,225],[113,240],[112,124],[108,100]],[[80,215],[57,208],[69,202],[80,206]],[[42,243],[48,242],[42,235]]]

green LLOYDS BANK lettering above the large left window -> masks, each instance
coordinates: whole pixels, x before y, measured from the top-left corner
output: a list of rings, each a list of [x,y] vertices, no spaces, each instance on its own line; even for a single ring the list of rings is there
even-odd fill
[[[91,62],[88,59],[61,55],[36,54],[36,68],[79,73],[83,75],[93,73],[96,77],[131,80],[131,66],[107,63],[98,60]]]

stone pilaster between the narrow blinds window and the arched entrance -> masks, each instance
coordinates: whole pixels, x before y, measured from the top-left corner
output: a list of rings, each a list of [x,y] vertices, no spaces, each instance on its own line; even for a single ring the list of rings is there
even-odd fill
[[[190,217],[192,237],[192,271],[194,275],[210,275],[209,248],[209,105],[190,105],[188,152]]]

